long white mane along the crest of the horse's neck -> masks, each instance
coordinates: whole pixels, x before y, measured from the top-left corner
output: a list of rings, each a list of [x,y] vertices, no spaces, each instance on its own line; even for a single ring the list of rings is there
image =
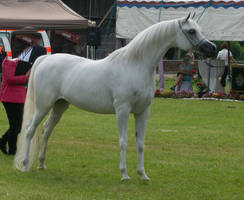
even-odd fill
[[[149,45],[158,45],[163,35],[175,32],[177,20],[164,21],[140,32],[128,45],[111,53],[107,59],[110,61],[123,59],[133,61],[145,56]],[[155,46],[156,47],[156,46]]]

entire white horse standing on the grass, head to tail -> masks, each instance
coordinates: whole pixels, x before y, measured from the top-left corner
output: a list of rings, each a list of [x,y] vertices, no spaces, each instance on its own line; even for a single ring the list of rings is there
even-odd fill
[[[39,154],[39,167],[45,167],[48,138],[68,105],[73,104],[90,112],[116,114],[122,180],[129,179],[126,172],[127,128],[129,114],[134,114],[137,171],[142,179],[148,180],[144,170],[144,138],[155,91],[157,63],[170,47],[187,50],[197,46],[206,54],[215,53],[214,45],[202,36],[197,24],[188,19],[189,16],[155,24],[138,34],[127,46],[102,60],[94,61],[68,54],[38,58],[29,80],[21,137],[15,157],[16,168],[29,170],[30,153],[33,153],[31,147],[35,146],[34,140],[38,135],[35,131],[52,109],[44,123]],[[195,33],[192,34],[193,29]]]

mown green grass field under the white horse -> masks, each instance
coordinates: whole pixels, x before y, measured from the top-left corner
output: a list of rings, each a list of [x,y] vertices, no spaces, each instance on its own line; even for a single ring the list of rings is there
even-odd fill
[[[0,154],[1,200],[242,200],[244,199],[244,103],[154,99],[145,141],[142,182],[136,173],[133,116],[127,168],[121,182],[114,115],[71,106],[54,130],[47,169],[29,173]],[[0,133],[7,119],[0,106]]]

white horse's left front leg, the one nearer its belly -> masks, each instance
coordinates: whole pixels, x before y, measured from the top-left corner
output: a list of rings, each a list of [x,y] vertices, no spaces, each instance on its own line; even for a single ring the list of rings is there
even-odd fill
[[[121,180],[128,180],[130,177],[126,171],[126,149],[128,146],[128,119],[130,108],[127,105],[116,106],[116,118],[119,131],[119,144],[120,144],[120,171],[122,173]]]

